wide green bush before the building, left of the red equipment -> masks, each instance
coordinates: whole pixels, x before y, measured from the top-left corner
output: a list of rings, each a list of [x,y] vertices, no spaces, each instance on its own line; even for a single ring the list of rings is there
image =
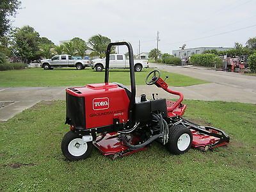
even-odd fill
[[[190,58],[190,63],[193,65],[204,66],[204,67],[222,67],[223,63],[221,58],[216,54],[194,54]]]

